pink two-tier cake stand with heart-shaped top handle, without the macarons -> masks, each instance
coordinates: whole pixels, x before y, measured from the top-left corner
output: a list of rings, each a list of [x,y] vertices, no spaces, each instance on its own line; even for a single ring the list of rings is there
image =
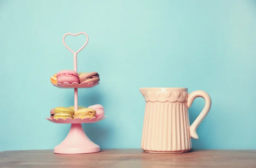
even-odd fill
[[[65,37],[67,35],[78,36],[79,34],[84,34],[86,36],[87,40],[84,43],[84,45],[81,48],[79,48],[79,50],[74,52],[66,45]],[[79,51],[81,51],[87,45],[88,36],[84,32],[80,32],[78,34],[67,33],[63,36],[62,41],[63,41],[64,46],[73,53],[74,71],[77,72],[77,53],[79,53]],[[78,109],[78,88],[89,88],[89,87],[94,87],[98,84],[99,83],[93,83],[93,82],[91,82],[91,83],[83,82],[81,84],[79,84],[77,82],[74,82],[72,84],[64,82],[64,84],[57,83],[57,84],[52,84],[52,85],[55,87],[58,87],[58,88],[74,88],[74,106],[75,106],[75,111],[76,111]],[[95,123],[100,120],[103,120],[106,117],[107,116],[99,117],[99,118],[94,117],[94,118],[90,118],[90,119],[89,118],[84,118],[84,119],[67,118],[66,120],[64,120],[62,118],[59,118],[59,119],[46,118],[47,120],[49,120],[53,123],[71,123],[70,131],[67,134],[67,137],[58,146],[55,146],[54,153],[56,153],[56,154],[88,154],[88,153],[99,152],[100,151],[99,145],[93,143],[87,137],[87,135],[84,133],[84,129],[83,129],[81,123]]]

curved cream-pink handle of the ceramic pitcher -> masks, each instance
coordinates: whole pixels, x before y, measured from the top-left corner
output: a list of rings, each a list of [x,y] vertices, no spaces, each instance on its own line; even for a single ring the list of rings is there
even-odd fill
[[[190,108],[190,106],[193,103],[193,101],[195,100],[195,98],[198,98],[198,97],[204,98],[205,105],[204,105],[204,109],[202,110],[202,112],[198,115],[198,117],[195,119],[195,121],[189,127],[190,137],[192,137],[194,139],[199,138],[198,134],[196,133],[196,129],[198,128],[198,126],[202,122],[202,120],[205,118],[205,116],[208,114],[208,112],[211,108],[211,105],[212,105],[212,100],[206,92],[204,92],[202,90],[196,90],[189,94],[188,103],[187,103],[188,108]]]

